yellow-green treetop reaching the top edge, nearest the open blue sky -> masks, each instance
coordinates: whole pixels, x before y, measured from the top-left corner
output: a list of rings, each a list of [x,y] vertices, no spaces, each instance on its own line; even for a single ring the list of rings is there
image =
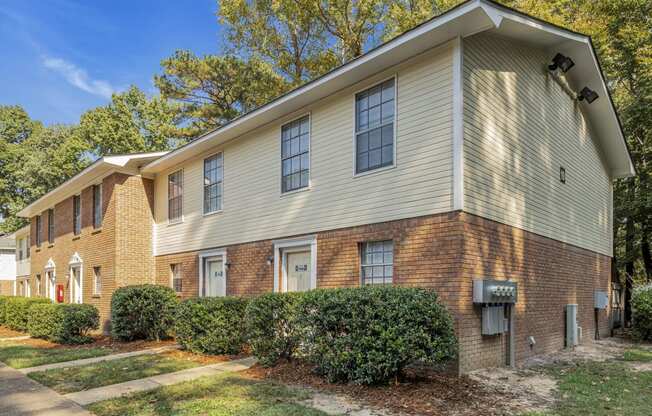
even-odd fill
[[[221,0],[218,18],[231,49],[268,62],[293,85],[327,72],[340,62],[328,48],[324,27],[295,0]]]

